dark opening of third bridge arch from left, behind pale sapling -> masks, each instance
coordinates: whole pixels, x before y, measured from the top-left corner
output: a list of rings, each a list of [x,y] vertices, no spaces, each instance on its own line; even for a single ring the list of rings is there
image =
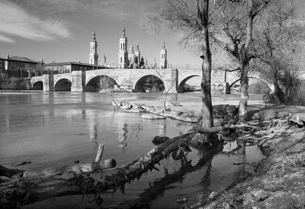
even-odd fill
[[[116,86],[116,87],[115,87]],[[91,78],[86,84],[86,92],[104,92],[118,87],[117,82],[107,75],[99,75]]]

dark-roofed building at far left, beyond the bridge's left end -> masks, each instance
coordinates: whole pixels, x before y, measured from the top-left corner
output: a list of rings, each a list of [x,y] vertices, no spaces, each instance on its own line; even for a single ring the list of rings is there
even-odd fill
[[[0,58],[1,77],[32,77],[42,75],[43,58],[41,62],[22,56],[9,56]]]

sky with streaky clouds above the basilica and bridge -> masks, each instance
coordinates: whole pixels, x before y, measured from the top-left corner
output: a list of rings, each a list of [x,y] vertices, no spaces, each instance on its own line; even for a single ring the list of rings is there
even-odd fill
[[[305,15],[305,0],[299,0]],[[141,56],[160,63],[163,37],[169,65],[200,69],[202,59],[178,46],[179,34],[144,31],[143,16],[156,12],[162,0],[0,0],[0,57],[23,56],[44,63],[89,62],[89,43],[95,27],[99,61],[105,53],[112,64],[119,49],[123,22],[128,49],[138,40]]]

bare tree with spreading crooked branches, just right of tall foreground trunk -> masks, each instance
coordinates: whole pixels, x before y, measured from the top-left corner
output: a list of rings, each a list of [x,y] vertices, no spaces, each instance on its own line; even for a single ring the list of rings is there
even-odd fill
[[[239,120],[246,121],[248,110],[248,72],[253,53],[253,24],[272,0],[219,0],[213,40],[233,55],[240,66],[241,97]]]

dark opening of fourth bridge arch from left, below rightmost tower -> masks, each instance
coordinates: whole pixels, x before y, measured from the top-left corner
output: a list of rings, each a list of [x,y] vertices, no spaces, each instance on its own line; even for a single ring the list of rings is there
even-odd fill
[[[155,75],[141,77],[134,86],[133,92],[163,92],[163,81]]]

